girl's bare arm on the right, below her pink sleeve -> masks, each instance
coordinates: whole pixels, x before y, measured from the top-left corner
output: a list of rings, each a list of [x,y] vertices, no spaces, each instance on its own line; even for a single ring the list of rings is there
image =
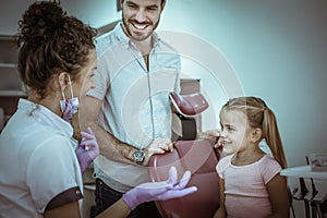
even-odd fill
[[[267,183],[266,187],[272,207],[272,215],[270,217],[290,217],[290,196],[286,178],[277,174]]]

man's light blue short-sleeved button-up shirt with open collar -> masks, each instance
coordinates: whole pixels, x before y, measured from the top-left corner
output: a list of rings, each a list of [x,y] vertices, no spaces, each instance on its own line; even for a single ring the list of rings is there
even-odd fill
[[[154,138],[171,137],[169,93],[180,92],[180,56],[157,34],[153,35],[153,41],[147,70],[141,51],[124,34],[120,23],[112,32],[98,38],[97,84],[96,88],[88,93],[104,100],[99,116],[104,129],[121,142],[137,148],[147,147]],[[131,168],[135,173],[136,169],[132,169],[135,166],[105,159],[102,164],[98,161],[97,167],[101,168],[101,165],[107,162],[111,168],[116,168],[106,173],[114,178],[114,181],[122,183],[126,180],[120,175],[122,173],[113,173],[119,170],[119,165],[124,172],[129,173],[126,168]],[[144,170],[146,169],[142,169]],[[140,180],[135,178],[134,182],[130,175],[128,180],[133,182],[129,186],[134,186],[146,179],[147,177]]]

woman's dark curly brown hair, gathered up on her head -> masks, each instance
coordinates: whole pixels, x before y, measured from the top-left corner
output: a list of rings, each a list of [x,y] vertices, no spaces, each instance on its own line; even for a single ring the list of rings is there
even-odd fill
[[[37,1],[19,21],[19,72],[25,85],[40,98],[53,75],[73,77],[95,49],[96,29],[69,16],[57,1]]]

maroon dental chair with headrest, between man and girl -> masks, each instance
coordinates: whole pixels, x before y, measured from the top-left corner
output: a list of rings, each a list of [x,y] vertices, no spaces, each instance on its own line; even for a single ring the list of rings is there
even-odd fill
[[[196,140],[195,117],[208,108],[208,102],[199,94],[170,94],[175,113],[182,123],[182,134],[173,142],[173,152],[154,155],[149,160],[152,181],[165,181],[169,168],[178,169],[179,179],[185,170],[192,173],[189,186],[197,186],[197,192],[181,198],[156,202],[164,218],[211,218],[219,207],[219,177],[216,165],[220,158],[209,140]]]

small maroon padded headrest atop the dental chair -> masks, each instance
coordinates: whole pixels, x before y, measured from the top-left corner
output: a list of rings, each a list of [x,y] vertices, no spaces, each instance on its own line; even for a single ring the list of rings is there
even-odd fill
[[[174,108],[184,117],[196,116],[209,107],[209,104],[201,93],[190,95],[170,93],[169,97]]]

